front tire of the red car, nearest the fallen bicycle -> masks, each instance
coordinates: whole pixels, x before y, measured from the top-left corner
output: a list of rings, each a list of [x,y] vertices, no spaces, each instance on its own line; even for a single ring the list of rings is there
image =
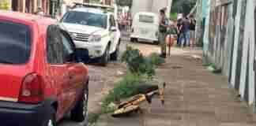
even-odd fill
[[[88,83],[80,100],[77,101],[77,105],[71,110],[71,120],[77,122],[85,121],[85,126],[88,124]]]

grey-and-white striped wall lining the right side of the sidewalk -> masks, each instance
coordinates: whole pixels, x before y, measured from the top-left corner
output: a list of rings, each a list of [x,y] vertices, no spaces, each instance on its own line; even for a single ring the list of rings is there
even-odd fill
[[[230,86],[255,109],[256,3],[254,0],[203,1],[209,5],[204,33],[201,33],[205,59],[221,69]]]

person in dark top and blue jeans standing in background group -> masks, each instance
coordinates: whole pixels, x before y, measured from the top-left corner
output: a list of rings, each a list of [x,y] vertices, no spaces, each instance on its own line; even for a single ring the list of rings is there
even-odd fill
[[[190,45],[190,20],[183,15],[182,25],[179,28],[180,32],[180,44],[183,47]]]

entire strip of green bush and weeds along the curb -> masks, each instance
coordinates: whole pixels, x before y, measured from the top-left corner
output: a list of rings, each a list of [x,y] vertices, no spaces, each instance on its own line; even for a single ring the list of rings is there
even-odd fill
[[[157,65],[162,65],[165,60],[159,54],[153,53],[149,57],[144,57],[140,50],[130,46],[122,55],[122,61],[126,63],[128,72],[122,80],[115,83],[115,87],[108,92],[101,104],[100,113],[89,114],[89,124],[93,125],[99,119],[101,114],[111,113],[114,108],[111,104],[119,102],[123,98],[130,98],[134,95],[145,94],[145,89],[152,87],[150,81],[155,75]]]

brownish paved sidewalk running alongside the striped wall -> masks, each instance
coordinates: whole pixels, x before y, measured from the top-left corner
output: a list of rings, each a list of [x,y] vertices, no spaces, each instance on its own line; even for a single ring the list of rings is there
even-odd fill
[[[168,82],[164,106],[155,98],[142,107],[144,114],[104,116],[97,126],[255,126],[254,114],[236,98],[224,76],[209,72],[192,54],[171,55],[157,69],[159,79]]]

